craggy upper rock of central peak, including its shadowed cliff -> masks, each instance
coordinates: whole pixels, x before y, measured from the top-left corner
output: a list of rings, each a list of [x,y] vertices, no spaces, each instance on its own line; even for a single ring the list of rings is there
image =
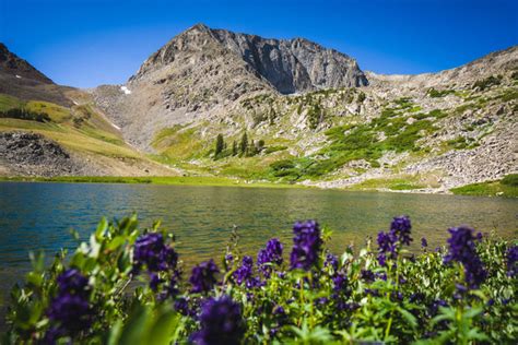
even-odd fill
[[[153,53],[134,78],[143,78],[175,59],[189,60],[186,58],[195,59],[198,55],[198,59],[205,61],[222,53],[232,53],[234,60],[246,62],[249,72],[282,94],[368,84],[354,59],[305,38],[263,38],[213,29],[201,23],[174,37]]]

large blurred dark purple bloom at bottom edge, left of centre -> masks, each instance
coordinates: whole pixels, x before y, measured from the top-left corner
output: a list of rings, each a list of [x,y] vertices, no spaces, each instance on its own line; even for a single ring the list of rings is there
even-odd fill
[[[202,306],[200,324],[191,338],[199,345],[240,344],[245,334],[240,307],[228,296],[209,299]]]

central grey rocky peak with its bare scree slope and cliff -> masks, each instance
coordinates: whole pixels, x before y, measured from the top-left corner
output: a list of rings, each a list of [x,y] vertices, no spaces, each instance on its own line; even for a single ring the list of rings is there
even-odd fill
[[[128,141],[150,151],[156,130],[213,112],[245,95],[367,83],[354,59],[306,39],[266,39],[198,24],[153,53],[128,81],[126,92],[99,87],[94,97],[127,130]]]

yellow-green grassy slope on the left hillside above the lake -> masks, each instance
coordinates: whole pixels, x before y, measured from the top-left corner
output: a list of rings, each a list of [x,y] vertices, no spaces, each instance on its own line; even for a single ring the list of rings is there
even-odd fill
[[[9,110],[23,109],[30,114],[45,115],[46,120],[34,121],[9,118]],[[145,175],[142,167],[151,166],[156,174],[167,175],[167,169],[127,145],[120,132],[111,126],[91,104],[71,108],[48,102],[25,102],[0,94],[0,131],[31,131],[56,141],[69,152],[87,159],[104,169],[104,174]],[[11,111],[12,112],[12,111]],[[137,166],[139,168],[137,169]],[[110,168],[114,168],[110,171]],[[136,168],[133,168],[136,167]],[[146,169],[145,167],[143,169]]]

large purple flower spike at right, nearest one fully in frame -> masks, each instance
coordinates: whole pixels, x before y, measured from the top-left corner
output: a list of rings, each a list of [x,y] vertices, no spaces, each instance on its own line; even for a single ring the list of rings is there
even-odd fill
[[[448,239],[449,252],[445,257],[445,263],[457,261],[464,266],[466,282],[472,288],[478,288],[487,276],[482,261],[476,254],[473,236],[473,229],[461,226],[458,228],[450,228],[448,231],[451,237]]]

